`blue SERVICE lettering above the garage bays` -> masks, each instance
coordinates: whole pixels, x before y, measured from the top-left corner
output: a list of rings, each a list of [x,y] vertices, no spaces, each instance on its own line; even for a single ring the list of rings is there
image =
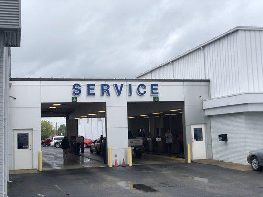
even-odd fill
[[[115,93],[120,96],[122,94],[122,90],[124,87],[124,84],[113,84]],[[86,85],[86,94],[87,96],[95,96],[95,84],[87,84]],[[135,89],[135,90],[134,90]],[[143,96],[146,94],[146,85],[141,83],[138,84],[136,87],[132,86],[132,84],[127,85],[127,91],[128,95],[132,95],[134,91],[140,96]],[[79,83],[75,83],[72,86],[72,94],[74,96],[79,96],[82,93],[82,87]],[[110,96],[110,85],[109,84],[100,84],[100,95],[108,95]],[[150,84],[150,95],[156,96],[159,95],[158,93],[158,84]]]

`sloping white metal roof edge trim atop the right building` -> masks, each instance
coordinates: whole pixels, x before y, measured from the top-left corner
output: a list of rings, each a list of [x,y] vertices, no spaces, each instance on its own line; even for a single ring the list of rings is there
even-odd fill
[[[209,40],[209,41],[207,41],[207,42],[205,42],[205,43],[203,43],[203,44],[200,44],[199,46],[197,46],[197,47],[195,47],[195,48],[193,48],[193,49],[191,49],[191,50],[189,50],[189,51],[187,51],[187,52],[185,52],[185,53],[183,53],[183,54],[181,54],[181,55],[178,55],[177,57],[175,57],[175,58],[173,58],[173,59],[171,59],[171,60],[168,60],[168,61],[166,61],[166,62],[164,62],[164,63],[162,63],[162,64],[160,64],[160,65],[158,65],[158,66],[155,66],[155,67],[151,68],[150,70],[147,70],[146,72],[143,72],[143,73],[137,75],[135,78],[138,78],[138,77],[140,77],[140,76],[142,76],[142,75],[145,75],[145,74],[147,74],[147,73],[150,73],[151,71],[153,71],[153,70],[155,70],[155,69],[157,69],[157,68],[159,68],[159,67],[162,67],[162,66],[164,66],[164,65],[167,65],[168,63],[170,63],[170,62],[172,62],[172,61],[174,61],[174,60],[176,60],[176,59],[182,58],[183,56],[186,56],[186,55],[188,55],[189,53],[191,53],[191,52],[193,52],[193,51],[195,51],[195,50],[198,50],[198,49],[200,49],[201,47],[204,47],[204,46],[210,44],[211,42],[214,42],[214,41],[216,41],[216,40],[218,40],[218,39],[220,39],[220,38],[222,38],[222,37],[224,37],[224,36],[226,36],[226,35],[228,35],[228,34],[230,34],[230,33],[233,33],[233,32],[235,32],[235,31],[237,31],[237,30],[263,30],[263,27],[237,26],[237,27],[235,27],[235,28],[233,28],[233,29],[230,29],[229,31],[227,31],[227,32],[225,32],[225,33],[217,36],[217,37],[214,37],[213,39],[211,39],[211,40]]]

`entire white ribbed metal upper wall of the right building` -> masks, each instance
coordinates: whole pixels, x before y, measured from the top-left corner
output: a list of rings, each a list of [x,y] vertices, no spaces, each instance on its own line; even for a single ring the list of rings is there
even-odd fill
[[[263,31],[229,33],[151,73],[156,79],[210,79],[211,98],[262,92]]]

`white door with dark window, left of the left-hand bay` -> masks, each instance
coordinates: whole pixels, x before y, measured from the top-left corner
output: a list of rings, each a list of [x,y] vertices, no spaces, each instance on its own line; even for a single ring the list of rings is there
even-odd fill
[[[32,130],[14,130],[15,169],[32,169]]]

